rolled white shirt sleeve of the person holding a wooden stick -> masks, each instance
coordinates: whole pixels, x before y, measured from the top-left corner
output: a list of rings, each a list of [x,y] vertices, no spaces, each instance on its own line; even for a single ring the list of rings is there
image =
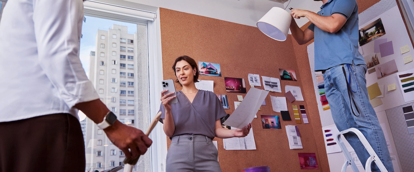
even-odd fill
[[[79,59],[82,19],[82,0],[33,0],[39,65],[70,108],[99,99]]]

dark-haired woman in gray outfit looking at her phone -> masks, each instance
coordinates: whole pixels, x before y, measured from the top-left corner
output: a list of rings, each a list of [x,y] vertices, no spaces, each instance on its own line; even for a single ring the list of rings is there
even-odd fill
[[[176,96],[161,92],[161,118],[164,132],[170,137],[166,172],[221,172],[218,153],[212,139],[246,137],[251,124],[242,129],[228,130],[221,127],[220,118],[226,116],[216,94],[197,90],[199,71],[194,59],[181,56],[173,64],[177,80],[183,86]],[[177,97],[178,103],[168,104]]]

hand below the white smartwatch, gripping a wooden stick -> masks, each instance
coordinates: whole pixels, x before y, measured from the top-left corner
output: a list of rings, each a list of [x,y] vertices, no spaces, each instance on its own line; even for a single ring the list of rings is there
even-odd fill
[[[135,159],[139,155],[144,155],[147,152],[147,148],[152,144],[152,140],[141,130],[124,125],[118,120],[103,131],[105,131],[109,140],[125,153],[127,158],[132,157],[132,159]]]

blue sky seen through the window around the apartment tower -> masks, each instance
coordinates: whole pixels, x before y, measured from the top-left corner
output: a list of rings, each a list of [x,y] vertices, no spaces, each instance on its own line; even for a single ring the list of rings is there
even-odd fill
[[[102,19],[98,17],[85,16],[86,22],[82,24],[82,39],[80,40],[79,58],[82,66],[89,77],[89,54],[95,51],[96,32],[98,30],[108,31],[113,24],[128,26],[128,33],[137,32],[137,24]]]

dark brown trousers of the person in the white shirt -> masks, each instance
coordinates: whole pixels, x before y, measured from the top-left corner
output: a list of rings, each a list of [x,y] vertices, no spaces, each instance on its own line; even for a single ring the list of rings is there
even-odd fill
[[[84,172],[82,130],[67,113],[0,123],[0,172]]]

